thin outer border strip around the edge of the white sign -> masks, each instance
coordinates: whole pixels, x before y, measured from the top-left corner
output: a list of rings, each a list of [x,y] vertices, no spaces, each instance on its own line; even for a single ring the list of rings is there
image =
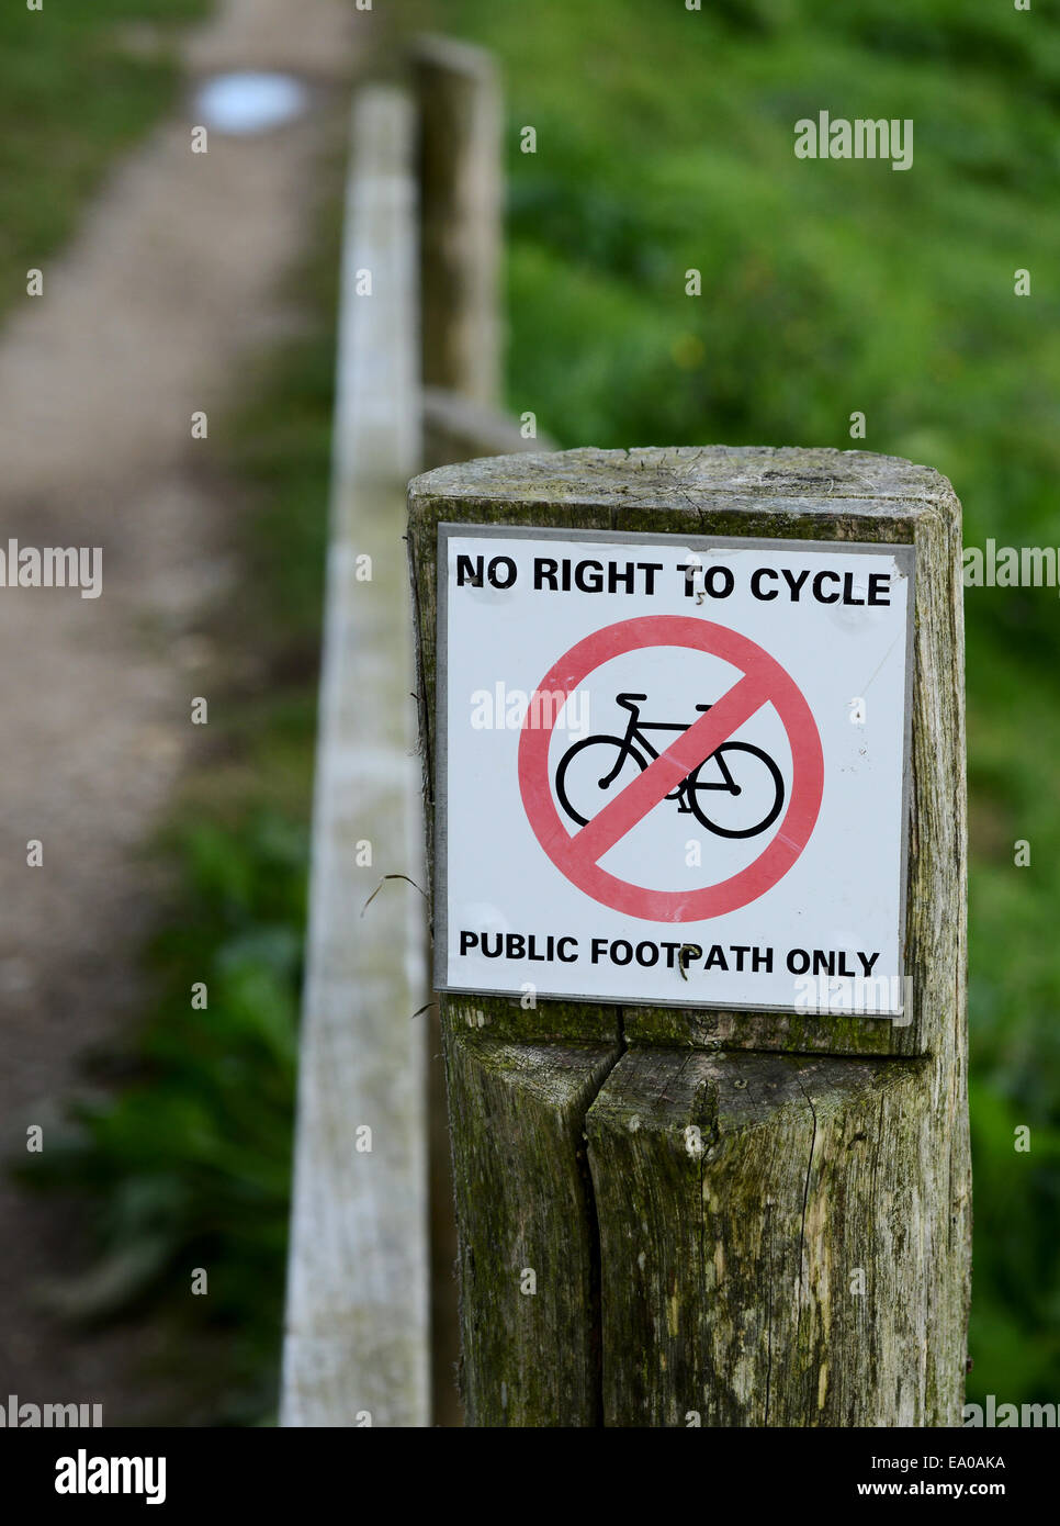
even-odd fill
[[[448,984],[448,542],[453,536],[468,536],[476,540],[496,537],[499,540],[566,540],[575,545],[654,545],[660,540],[673,539],[682,548],[692,551],[712,551],[717,548],[772,551],[782,546],[785,551],[817,551],[843,555],[889,555],[894,557],[904,575],[909,578],[909,594],[906,603],[906,713],[903,737],[901,766],[901,884],[898,887],[898,969],[901,971],[903,990],[909,990],[906,981],[906,931],[907,931],[907,894],[909,894],[909,807],[912,798],[912,687],[914,687],[914,632],[917,624],[917,548],[912,543],[889,540],[796,540],[787,536],[683,536],[670,531],[645,530],[581,530],[577,525],[493,525],[467,523],[455,520],[439,520],[438,523],[438,584],[436,584],[436,630],[435,630],[435,873],[433,873],[433,923],[435,951],[433,977],[435,990],[464,996],[503,996],[517,1001],[511,990],[496,990],[485,986],[450,986]],[[674,1001],[668,998],[660,1003],[657,998],[624,996],[621,1001],[609,996],[586,996],[561,990],[538,992],[541,1001],[578,1001],[590,1007],[680,1007],[695,1012],[763,1012],[784,1013],[796,1016],[857,1016],[879,1022],[900,1022],[907,1027],[914,1015],[907,1010],[900,1013],[850,1012],[840,1009],[801,1009],[796,1006],[750,1006],[734,1007],[731,1001]]]

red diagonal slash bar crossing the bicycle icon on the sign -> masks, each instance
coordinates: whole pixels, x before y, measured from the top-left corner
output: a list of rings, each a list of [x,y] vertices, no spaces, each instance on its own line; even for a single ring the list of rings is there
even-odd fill
[[[746,674],[734,684],[705,716],[700,716],[665,752],[653,758],[642,774],[638,774],[570,838],[572,858],[596,864],[767,700],[769,690],[756,674]]]

